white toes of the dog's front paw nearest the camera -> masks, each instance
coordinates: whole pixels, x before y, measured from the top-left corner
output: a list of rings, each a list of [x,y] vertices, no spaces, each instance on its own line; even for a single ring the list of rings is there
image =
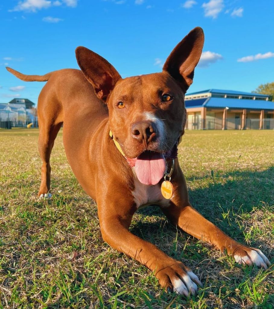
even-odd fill
[[[201,281],[194,273],[192,273],[192,271],[187,272],[187,275],[184,275],[180,279],[179,278],[173,279],[172,280],[173,292],[185,296],[188,296],[189,294],[195,296],[198,287],[197,284],[193,281],[195,281],[200,286],[203,286]]]

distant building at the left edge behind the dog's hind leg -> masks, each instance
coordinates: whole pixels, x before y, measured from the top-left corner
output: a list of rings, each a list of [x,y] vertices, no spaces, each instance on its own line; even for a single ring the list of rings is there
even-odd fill
[[[29,99],[12,99],[9,103],[0,103],[0,127],[25,127],[29,123],[37,126],[36,109]]]

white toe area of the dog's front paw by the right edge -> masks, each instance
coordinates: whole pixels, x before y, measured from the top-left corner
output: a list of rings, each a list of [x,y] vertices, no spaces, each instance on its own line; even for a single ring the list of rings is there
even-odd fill
[[[234,259],[239,264],[252,265],[253,263],[258,267],[267,269],[271,265],[268,258],[259,249],[251,249],[250,252],[246,252],[246,255],[234,255]]]

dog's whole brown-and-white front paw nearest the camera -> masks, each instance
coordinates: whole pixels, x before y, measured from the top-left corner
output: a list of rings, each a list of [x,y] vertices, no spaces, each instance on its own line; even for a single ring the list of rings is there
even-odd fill
[[[203,286],[199,278],[183,263],[174,261],[173,264],[163,267],[156,272],[156,277],[162,287],[180,295],[195,296],[197,285]]]

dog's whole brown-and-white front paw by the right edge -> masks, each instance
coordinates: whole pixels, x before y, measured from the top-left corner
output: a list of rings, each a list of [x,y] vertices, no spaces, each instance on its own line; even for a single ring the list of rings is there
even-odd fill
[[[267,269],[271,265],[268,258],[259,249],[242,246],[233,253],[234,259],[239,264],[252,265]]]

